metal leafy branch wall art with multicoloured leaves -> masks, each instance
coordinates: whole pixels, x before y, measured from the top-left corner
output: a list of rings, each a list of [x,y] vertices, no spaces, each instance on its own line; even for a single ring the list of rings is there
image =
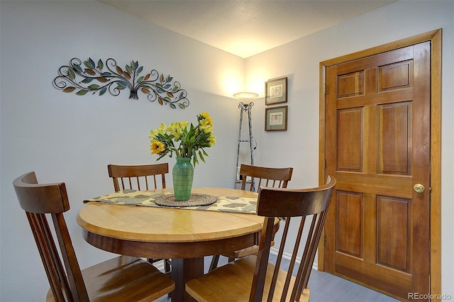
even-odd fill
[[[171,108],[186,108],[189,106],[187,91],[181,88],[181,84],[173,81],[173,77],[160,74],[156,69],[140,75],[143,66],[139,67],[138,61],[131,61],[121,69],[116,65],[116,60],[109,58],[106,64],[99,59],[97,63],[88,58],[83,62],[74,57],[70,65],[64,65],[58,69],[58,76],[53,83],[57,89],[64,92],[83,96],[89,92],[98,93],[102,96],[107,91],[112,96],[118,96],[123,89],[129,89],[129,99],[139,99],[138,91],[147,94],[150,102],[157,101],[160,105],[168,104]]]

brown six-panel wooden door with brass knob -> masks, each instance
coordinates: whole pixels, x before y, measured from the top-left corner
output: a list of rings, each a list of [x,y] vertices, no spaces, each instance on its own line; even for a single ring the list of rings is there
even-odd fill
[[[324,269],[390,296],[430,293],[431,43],[326,68]]]

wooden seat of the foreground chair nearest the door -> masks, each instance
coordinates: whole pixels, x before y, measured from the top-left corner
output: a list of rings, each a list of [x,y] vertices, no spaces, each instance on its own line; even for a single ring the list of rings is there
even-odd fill
[[[218,301],[249,301],[250,289],[253,282],[253,272],[257,257],[250,255],[242,259],[230,262],[222,267],[218,267],[209,274],[205,274],[197,279],[192,279],[186,284],[186,291],[193,296],[196,301],[218,302]],[[272,272],[275,269],[273,264],[268,263],[267,277],[265,280],[265,290],[263,296],[267,297]],[[276,284],[276,292],[282,293],[285,276],[287,272],[280,270]],[[220,280],[222,282],[220,282]],[[292,276],[291,286],[294,284]],[[290,293],[287,296],[289,300]],[[309,288],[304,289],[299,301],[309,301]],[[280,295],[275,294],[273,301],[279,301]],[[286,300],[286,301],[287,301]]]

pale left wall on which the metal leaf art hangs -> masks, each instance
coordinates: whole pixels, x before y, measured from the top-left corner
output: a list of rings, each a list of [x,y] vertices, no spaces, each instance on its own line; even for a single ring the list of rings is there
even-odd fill
[[[194,186],[233,185],[238,103],[232,94],[243,91],[242,58],[98,1],[1,1],[0,20],[1,301],[43,301],[48,289],[12,187],[21,174],[66,182],[72,207],[66,218],[81,267],[111,256],[82,239],[75,221],[82,200],[113,190],[107,164],[155,162],[148,135],[161,122],[195,123],[197,113],[211,113],[218,140],[207,163],[196,167]],[[138,60],[148,72],[172,74],[191,104],[174,110],[140,92],[131,101],[128,91],[65,94],[52,80],[72,57],[113,57],[122,68]],[[160,162],[166,160],[175,161]]]

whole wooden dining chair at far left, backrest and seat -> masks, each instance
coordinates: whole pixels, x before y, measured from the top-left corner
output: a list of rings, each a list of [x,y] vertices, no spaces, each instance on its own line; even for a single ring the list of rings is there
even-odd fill
[[[65,183],[38,184],[35,172],[29,172],[13,186],[48,276],[46,301],[153,301],[175,288],[168,276],[137,257],[119,256],[81,271],[63,216],[70,209]],[[46,216],[52,218],[57,245]]]

